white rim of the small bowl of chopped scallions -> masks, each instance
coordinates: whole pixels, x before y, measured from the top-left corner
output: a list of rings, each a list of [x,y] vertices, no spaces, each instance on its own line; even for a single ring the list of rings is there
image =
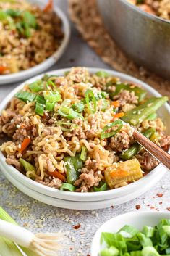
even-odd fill
[[[165,215],[168,215],[169,217],[167,218],[170,218],[170,212],[149,212],[149,211],[140,211],[140,212],[127,212],[127,213],[124,213],[124,214],[121,214],[121,215],[116,215],[114,218],[111,218],[109,220],[106,220],[106,222],[104,222],[98,229],[97,231],[95,231],[95,235],[93,236],[93,239],[92,239],[92,243],[91,243],[91,247],[90,247],[90,252],[91,252],[91,255],[93,256],[94,255],[94,252],[95,249],[95,244],[96,244],[96,241],[98,241],[98,236],[101,234],[102,230],[103,230],[103,227],[107,225],[107,223],[110,223],[112,221],[119,221],[119,219],[121,219],[122,217],[124,218],[132,218],[133,216],[136,216],[138,215],[139,218],[143,217],[143,215],[160,215],[160,218],[165,218],[164,216]],[[105,231],[106,232],[106,231]]]

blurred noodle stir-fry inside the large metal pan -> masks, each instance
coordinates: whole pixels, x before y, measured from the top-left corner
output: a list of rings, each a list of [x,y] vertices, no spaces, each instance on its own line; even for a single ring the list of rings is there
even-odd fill
[[[157,15],[166,20],[170,20],[169,0],[127,0],[131,4],[137,5],[140,9],[150,14]]]

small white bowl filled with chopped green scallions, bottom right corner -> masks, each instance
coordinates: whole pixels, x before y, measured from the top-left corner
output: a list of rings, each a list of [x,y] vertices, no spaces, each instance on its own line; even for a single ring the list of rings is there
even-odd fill
[[[170,255],[170,212],[129,212],[96,231],[91,256]]]

